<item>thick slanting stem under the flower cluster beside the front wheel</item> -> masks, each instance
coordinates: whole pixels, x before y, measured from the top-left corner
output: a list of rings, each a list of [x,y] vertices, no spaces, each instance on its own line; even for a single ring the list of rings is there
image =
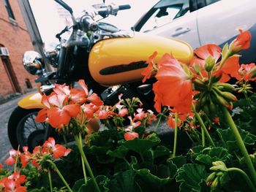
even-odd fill
[[[82,155],[83,161],[86,164],[86,168],[88,169],[88,172],[89,172],[91,179],[94,183],[94,187],[97,192],[100,192],[99,185],[97,184],[97,182],[95,180],[94,173],[91,171],[91,166],[86,158],[86,154],[84,154],[84,152],[83,152],[83,145],[81,145],[81,143],[82,143],[81,142],[81,140],[82,140],[81,134],[79,134],[79,137],[78,137],[78,135],[75,135],[74,137],[75,137],[75,142],[78,145],[78,150],[79,150],[80,154]]]

